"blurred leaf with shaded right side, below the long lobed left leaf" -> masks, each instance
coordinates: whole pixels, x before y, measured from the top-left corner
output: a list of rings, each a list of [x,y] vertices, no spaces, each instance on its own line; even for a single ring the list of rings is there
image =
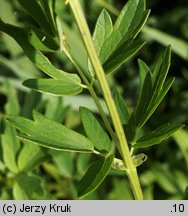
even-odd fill
[[[44,149],[26,142],[18,156],[18,168],[22,172],[29,172],[47,159],[49,156]]]

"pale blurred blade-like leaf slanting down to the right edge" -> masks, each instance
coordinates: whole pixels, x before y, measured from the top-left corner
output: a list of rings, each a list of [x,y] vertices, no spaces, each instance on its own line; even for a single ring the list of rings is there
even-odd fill
[[[153,39],[165,46],[171,44],[172,51],[181,58],[188,60],[188,43],[186,41],[148,26],[142,29],[142,33],[149,39]]]

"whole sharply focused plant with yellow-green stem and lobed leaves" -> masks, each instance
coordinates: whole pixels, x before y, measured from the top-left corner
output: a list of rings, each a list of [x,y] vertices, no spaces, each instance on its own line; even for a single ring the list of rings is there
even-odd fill
[[[142,165],[147,156],[144,153],[138,154],[137,149],[160,144],[182,127],[179,124],[165,123],[154,131],[142,133],[143,127],[174,81],[174,78],[167,79],[170,46],[161,53],[152,70],[144,61],[138,60],[140,93],[134,109],[127,106],[117,89],[112,92],[107,81],[108,74],[117,71],[145,43],[137,39],[150,13],[150,10],[146,9],[145,0],[126,2],[114,23],[109,13],[103,9],[93,35],[90,33],[79,0],[66,2],[62,0],[62,4],[65,3],[66,7],[71,8],[80,31],[88,55],[87,70],[83,70],[71,50],[71,44],[68,43],[63,31],[64,26],[55,13],[54,0],[18,0],[18,2],[32,22],[28,20],[27,23],[26,20],[20,27],[0,20],[0,31],[14,38],[25,55],[46,74],[44,78],[27,79],[23,85],[59,97],[81,94],[86,90],[98,108],[102,124],[86,107],[79,109],[85,134],[69,129],[36,110],[33,110],[33,120],[31,120],[17,115],[17,112],[10,109],[4,116],[4,119],[14,126],[10,125],[9,129],[14,130],[14,133],[16,133],[15,128],[18,129],[17,137],[25,145],[32,143],[57,151],[97,155],[98,159],[90,165],[79,181],[78,197],[90,194],[99,187],[111,169],[117,169],[124,171],[125,178],[128,177],[134,198],[142,200],[143,193],[137,167]],[[56,52],[65,53],[74,65],[75,73],[58,69],[49,61],[46,53]],[[101,105],[98,93],[102,94],[106,102],[108,115]],[[18,143],[16,140],[15,146],[12,146],[16,153],[16,149],[19,148]],[[15,170],[19,172],[14,155],[12,157],[14,163],[9,167],[13,172]],[[27,167],[24,167],[20,157],[24,158],[23,152],[19,156],[19,166],[23,171]],[[32,164],[35,164],[34,160],[39,158],[34,158]],[[24,178],[28,177],[20,174],[18,181],[24,182]],[[35,181],[37,185],[37,179]]]

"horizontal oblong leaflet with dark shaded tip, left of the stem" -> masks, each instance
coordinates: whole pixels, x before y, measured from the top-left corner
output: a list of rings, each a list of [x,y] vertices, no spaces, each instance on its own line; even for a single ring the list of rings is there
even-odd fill
[[[23,85],[39,92],[46,92],[58,96],[75,95],[82,91],[81,86],[66,77],[61,80],[28,79],[23,82]]]

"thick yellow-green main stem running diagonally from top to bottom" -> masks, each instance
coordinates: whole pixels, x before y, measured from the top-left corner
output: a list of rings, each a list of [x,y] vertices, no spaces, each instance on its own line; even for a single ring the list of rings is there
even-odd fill
[[[111,91],[110,91],[108,82],[106,80],[106,76],[105,76],[103,67],[95,51],[92,37],[89,31],[89,27],[87,25],[83,10],[81,8],[79,0],[69,0],[68,3],[70,4],[73,14],[75,16],[75,19],[80,29],[90,61],[93,65],[93,68],[95,70],[96,76],[98,78],[98,81],[100,83],[100,86],[103,92],[104,99],[107,103],[107,107],[109,109],[109,113],[111,115],[112,122],[115,128],[115,131],[117,133],[118,140],[119,140],[119,144],[117,147],[120,151],[120,154],[125,163],[125,166],[127,167],[127,174],[128,174],[129,181],[131,183],[133,194],[135,196],[135,199],[141,200],[143,199],[143,194],[142,194],[142,189],[140,186],[137,170],[132,162],[128,143],[127,143],[127,140],[124,134],[124,130],[121,125],[121,121],[120,121],[114,100],[112,98]]]

